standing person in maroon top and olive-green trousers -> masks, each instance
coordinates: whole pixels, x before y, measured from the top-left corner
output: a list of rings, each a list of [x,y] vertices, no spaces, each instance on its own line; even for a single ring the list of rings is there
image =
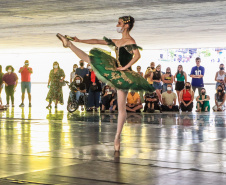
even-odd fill
[[[3,83],[5,84],[6,92],[6,106],[9,106],[9,99],[11,98],[12,107],[14,107],[14,92],[18,83],[18,77],[14,73],[14,68],[12,66],[6,66],[6,71],[2,77]]]

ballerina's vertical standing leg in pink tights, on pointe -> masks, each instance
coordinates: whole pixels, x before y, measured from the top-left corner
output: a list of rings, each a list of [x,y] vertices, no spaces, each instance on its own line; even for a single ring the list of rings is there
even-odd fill
[[[127,94],[128,92],[125,92],[123,90],[118,90],[117,91],[117,101],[118,101],[118,124],[117,124],[117,131],[115,135],[115,151],[120,150],[120,135],[122,132],[123,125],[126,121],[126,99],[127,99]]]

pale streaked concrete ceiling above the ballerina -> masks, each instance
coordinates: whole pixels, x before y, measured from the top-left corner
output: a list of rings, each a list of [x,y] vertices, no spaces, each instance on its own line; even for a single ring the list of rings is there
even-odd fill
[[[225,7],[214,0],[1,0],[0,49],[61,48],[58,32],[120,38],[122,15],[135,18],[131,35],[144,49],[225,47]]]

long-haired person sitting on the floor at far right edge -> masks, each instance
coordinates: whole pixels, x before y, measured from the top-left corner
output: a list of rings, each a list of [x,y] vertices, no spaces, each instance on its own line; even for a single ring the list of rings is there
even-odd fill
[[[225,92],[222,85],[218,85],[217,93],[215,94],[215,105],[213,111],[224,111],[225,110]]]

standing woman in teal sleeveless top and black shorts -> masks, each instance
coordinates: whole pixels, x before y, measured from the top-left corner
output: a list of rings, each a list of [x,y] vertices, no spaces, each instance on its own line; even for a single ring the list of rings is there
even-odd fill
[[[180,92],[184,89],[184,84],[187,82],[187,74],[183,71],[182,65],[178,65],[177,73],[174,75],[174,82],[175,90],[177,91],[178,105],[180,105]]]

